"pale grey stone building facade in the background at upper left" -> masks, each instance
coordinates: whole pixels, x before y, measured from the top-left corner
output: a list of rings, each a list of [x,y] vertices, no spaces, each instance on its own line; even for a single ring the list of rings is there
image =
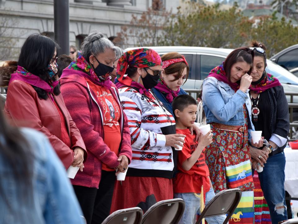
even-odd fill
[[[60,0],[59,0],[60,1]],[[152,0],[69,0],[70,45],[79,47],[90,30],[96,29],[106,37],[117,36],[121,26],[129,25],[132,14],[141,15]],[[163,0],[166,9],[176,12],[179,0]],[[5,21],[5,22],[3,22]],[[7,39],[7,47],[16,59],[25,39],[33,33],[53,38],[53,0],[0,0],[0,38]],[[6,47],[6,46],[4,46]],[[3,48],[3,45],[0,46]]]

